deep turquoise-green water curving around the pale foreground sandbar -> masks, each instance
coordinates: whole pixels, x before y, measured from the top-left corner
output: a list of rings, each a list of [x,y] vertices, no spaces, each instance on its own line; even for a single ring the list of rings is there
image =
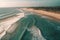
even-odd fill
[[[16,29],[16,35],[12,36],[10,40],[32,40],[33,35],[27,30],[31,26],[35,25],[37,28],[41,30],[43,37],[46,40],[60,40],[60,22],[49,20],[45,18],[41,18],[37,15],[28,15],[26,18],[22,18],[19,20],[21,25],[19,24],[19,28]],[[35,40],[37,40],[35,38]]]

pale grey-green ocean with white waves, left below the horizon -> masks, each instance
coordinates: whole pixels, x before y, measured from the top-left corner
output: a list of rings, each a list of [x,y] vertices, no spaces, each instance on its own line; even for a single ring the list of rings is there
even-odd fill
[[[13,16],[17,13],[21,13],[21,11],[16,8],[0,8],[0,19]]]

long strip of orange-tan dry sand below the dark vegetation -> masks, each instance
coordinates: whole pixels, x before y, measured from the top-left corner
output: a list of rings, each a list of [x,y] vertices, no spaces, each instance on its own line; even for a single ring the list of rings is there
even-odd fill
[[[31,12],[36,12],[37,14],[48,16],[51,19],[60,21],[60,13],[58,13],[58,12],[55,13],[55,12],[49,12],[49,11],[44,11],[44,10],[34,10],[32,8],[29,8],[29,9],[28,8],[22,8],[22,9],[27,10],[27,11],[31,11]]]

